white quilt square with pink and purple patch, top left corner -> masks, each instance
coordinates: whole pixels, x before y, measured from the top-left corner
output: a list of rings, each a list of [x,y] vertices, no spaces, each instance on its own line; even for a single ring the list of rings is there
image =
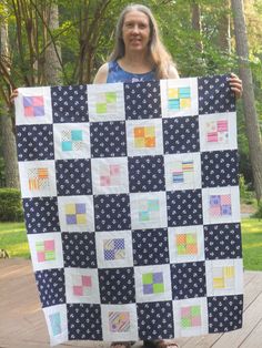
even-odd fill
[[[14,104],[17,125],[53,122],[50,86],[18,89]]]

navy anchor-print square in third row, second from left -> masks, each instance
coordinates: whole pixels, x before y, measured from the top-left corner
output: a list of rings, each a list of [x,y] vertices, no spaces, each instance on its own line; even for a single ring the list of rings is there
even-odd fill
[[[92,194],[90,160],[56,161],[59,196]]]

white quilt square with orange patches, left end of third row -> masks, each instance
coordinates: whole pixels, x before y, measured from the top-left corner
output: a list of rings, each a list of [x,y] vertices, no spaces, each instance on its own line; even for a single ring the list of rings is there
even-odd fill
[[[22,197],[57,196],[54,161],[18,162]]]

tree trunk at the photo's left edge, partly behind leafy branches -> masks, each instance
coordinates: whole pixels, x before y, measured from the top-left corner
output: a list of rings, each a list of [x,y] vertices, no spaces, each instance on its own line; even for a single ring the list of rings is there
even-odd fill
[[[7,69],[10,66],[10,54],[8,49],[8,25],[2,20],[1,22],[1,51],[0,55],[3,62],[6,62]],[[2,153],[4,161],[4,176],[6,186],[19,188],[19,175],[18,175],[18,157],[16,137],[12,132],[12,119],[9,115],[9,109],[7,106],[1,108],[0,125],[2,133]]]

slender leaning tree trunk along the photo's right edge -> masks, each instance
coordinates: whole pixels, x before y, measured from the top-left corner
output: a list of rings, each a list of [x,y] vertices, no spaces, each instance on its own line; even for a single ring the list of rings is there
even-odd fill
[[[249,63],[249,45],[242,0],[231,0],[234,14],[236,52],[239,55],[240,76],[243,81],[243,103],[250,160],[254,177],[258,201],[262,197],[262,143],[259,120],[255,110],[252,72]]]

